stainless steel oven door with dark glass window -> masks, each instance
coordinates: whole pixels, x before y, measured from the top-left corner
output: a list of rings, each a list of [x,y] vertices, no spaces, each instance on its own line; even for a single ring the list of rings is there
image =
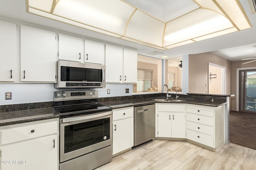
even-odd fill
[[[112,145],[112,112],[60,120],[60,162]]]

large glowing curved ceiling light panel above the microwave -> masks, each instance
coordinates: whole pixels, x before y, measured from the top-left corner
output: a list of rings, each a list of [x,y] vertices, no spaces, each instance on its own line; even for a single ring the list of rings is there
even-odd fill
[[[60,0],[53,14],[123,35],[134,10],[117,0]]]

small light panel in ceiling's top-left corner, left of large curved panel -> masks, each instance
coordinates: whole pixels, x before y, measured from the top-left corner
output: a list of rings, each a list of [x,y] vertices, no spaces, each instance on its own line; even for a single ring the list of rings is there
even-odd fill
[[[28,0],[29,6],[40,9],[45,12],[50,12],[53,0]]]

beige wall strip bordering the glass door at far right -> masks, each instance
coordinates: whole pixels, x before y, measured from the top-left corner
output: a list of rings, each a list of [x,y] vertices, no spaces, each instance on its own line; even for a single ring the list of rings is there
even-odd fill
[[[252,63],[247,63],[247,64],[242,64],[245,63],[246,61],[233,61],[231,62],[231,94],[234,94],[235,97],[231,98],[231,109],[230,110],[236,110],[238,108],[236,108],[236,100],[238,97],[238,94],[236,93],[236,89],[238,88],[237,84],[236,84],[236,70],[237,68],[255,68],[256,67],[256,63],[252,62]]]

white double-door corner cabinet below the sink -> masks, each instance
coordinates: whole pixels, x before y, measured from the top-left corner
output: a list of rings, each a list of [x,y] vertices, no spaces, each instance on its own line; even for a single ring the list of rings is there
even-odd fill
[[[156,137],[185,138],[184,104],[156,104]]]

